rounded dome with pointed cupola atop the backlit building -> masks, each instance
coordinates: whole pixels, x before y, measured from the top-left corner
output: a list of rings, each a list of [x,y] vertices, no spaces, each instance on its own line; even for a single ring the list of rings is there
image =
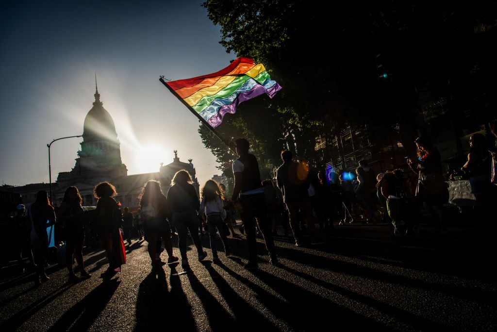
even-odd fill
[[[84,118],[83,140],[96,141],[107,140],[117,141],[116,127],[109,112],[102,106],[98,90],[95,92],[93,107]]]

